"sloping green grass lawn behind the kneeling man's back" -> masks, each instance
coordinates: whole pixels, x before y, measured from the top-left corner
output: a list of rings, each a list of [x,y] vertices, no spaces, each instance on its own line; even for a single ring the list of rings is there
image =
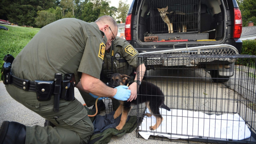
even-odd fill
[[[0,24],[1,25],[1,24]],[[14,57],[26,46],[40,28],[26,28],[22,26],[1,25],[9,31],[0,29],[0,69],[4,63],[3,58],[6,54]]]

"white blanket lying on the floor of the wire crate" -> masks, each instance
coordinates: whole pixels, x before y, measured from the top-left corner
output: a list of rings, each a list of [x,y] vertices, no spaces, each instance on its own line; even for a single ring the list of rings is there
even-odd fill
[[[147,109],[146,112],[149,112],[149,110]],[[156,118],[154,116],[144,116],[140,125],[142,131],[139,133],[146,140],[150,135],[161,135],[173,139],[208,137],[232,140],[243,140],[251,136],[248,126],[238,114],[207,115],[202,112],[177,109],[171,109],[171,111],[160,109],[160,113],[163,122],[154,131],[151,131],[149,126],[151,126],[151,123],[152,125],[156,123]],[[161,134],[154,132],[160,132]],[[183,135],[190,135],[190,137]]]

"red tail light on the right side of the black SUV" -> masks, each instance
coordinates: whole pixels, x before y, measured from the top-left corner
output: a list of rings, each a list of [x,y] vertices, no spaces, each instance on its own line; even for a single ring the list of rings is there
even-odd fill
[[[234,38],[240,38],[242,33],[242,15],[239,8],[234,8],[234,32],[233,37]]]

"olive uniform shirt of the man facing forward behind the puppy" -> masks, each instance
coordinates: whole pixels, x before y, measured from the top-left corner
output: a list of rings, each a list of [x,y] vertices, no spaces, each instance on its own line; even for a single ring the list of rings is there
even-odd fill
[[[120,37],[116,37],[116,40],[114,41],[114,47],[113,73],[130,75],[132,69],[136,69],[138,67],[138,51],[134,47],[132,47],[132,45],[129,44],[128,41]],[[110,52],[106,51],[103,63],[104,77],[110,77],[109,74],[111,74],[111,55],[112,49],[110,50]],[[126,60],[127,62],[125,62],[124,60]]]

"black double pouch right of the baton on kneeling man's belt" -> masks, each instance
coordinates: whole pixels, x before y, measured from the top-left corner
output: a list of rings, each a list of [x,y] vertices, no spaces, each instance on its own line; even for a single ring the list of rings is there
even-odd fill
[[[71,101],[75,99],[75,74],[66,73],[62,81],[62,93],[60,99]]]

